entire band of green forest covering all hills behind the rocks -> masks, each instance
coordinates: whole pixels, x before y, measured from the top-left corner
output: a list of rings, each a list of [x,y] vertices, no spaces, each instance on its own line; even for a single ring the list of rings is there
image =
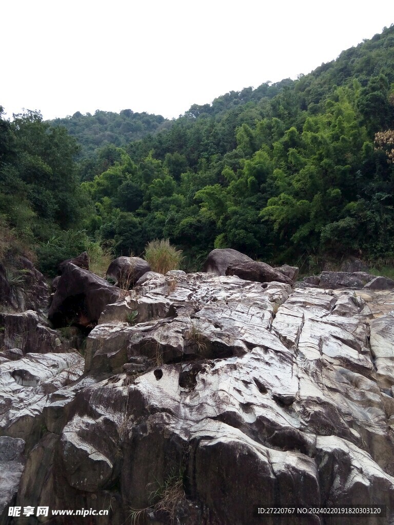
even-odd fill
[[[295,81],[171,122],[131,110],[3,119],[0,220],[46,270],[64,245],[139,255],[154,238],[189,268],[214,247],[298,264],[392,258],[393,128],[391,26]]]

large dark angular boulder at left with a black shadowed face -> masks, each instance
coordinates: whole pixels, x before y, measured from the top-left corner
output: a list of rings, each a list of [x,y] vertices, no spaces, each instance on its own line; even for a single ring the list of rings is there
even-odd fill
[[[92,327],[105,306],[119,297],[119,288],[69,262],[58,281],[48,319],[55,327],[70,322]]]

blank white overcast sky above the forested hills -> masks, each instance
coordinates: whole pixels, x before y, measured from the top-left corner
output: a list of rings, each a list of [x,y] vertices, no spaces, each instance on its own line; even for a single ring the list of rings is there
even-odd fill
[[[0,105],[178,117],[307,74],[393,22],[392,0],[3,0]]]

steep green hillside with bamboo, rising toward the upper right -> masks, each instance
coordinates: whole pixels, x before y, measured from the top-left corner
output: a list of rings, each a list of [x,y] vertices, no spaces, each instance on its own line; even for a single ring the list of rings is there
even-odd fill
[[[297,81],[192,106],[83,186],[88,225],[117,253],[169,237],[195,259],[232,247],[269,261],[394,252],[394,27]]]

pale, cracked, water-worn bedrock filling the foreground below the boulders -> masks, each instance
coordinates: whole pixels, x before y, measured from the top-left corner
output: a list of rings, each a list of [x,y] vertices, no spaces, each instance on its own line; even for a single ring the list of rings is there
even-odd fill
[[[90,272],[67,268],[94,309]],[[33,311],[2,314],[1,523],[355,523],[253,515],[348,505],[386,505],[358,522],[394,523],[394,289],[180,271],[127,294],[104,282],[112,302],[83,356]],[[32,323],[24,345],[12,315]]]

